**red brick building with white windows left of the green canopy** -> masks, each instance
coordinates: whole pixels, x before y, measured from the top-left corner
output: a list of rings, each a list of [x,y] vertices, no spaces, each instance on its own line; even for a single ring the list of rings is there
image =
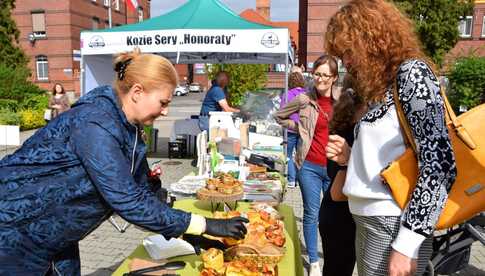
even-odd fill
[[[109,28],[110,1],[113,27],[150,17],[149,0],[138,0],[137,11],[123,0],[16,1],[12,15],[35,84],[50,90],[59,82],[79,95],[80,32]]]

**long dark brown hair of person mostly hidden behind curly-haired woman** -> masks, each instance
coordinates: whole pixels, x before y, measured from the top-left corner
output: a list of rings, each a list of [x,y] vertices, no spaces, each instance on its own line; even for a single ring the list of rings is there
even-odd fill
[[[339,134],[347,131],[355,124],[355,113],[362,109],[364,99],[356,92],[355,80],[346,74],[343,81],[342,94],[333,107],[330,121],[330,133]]]

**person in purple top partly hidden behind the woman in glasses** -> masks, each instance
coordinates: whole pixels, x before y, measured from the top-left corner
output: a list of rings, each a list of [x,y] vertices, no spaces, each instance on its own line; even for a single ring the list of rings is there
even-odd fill
[[[288,76],[288,93],[286,97],[285,94],[281,95],[281,108],[284,108],[286,103],[291,102],[296,96],[300,95],[301,93],[305,93],[306,90],[304,87],[305,80],[303,79],[303,75],[299,71],[290,73]],[[295,122],[295,125],[298,124],[298,112],[291,114],[290,119]],[[287,134],[288,143],[286,145],[286,153],[288,155],[288,187],[294,188],[296,187],[296,176],[298,169],[295,161],[293,160],[293,155],[298,147],[300,135],[298,135],[295,129],[290,128],[288,129]]]

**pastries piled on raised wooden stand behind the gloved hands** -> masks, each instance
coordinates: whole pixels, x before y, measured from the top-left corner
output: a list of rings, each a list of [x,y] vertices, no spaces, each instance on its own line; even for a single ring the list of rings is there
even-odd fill
[[[206,181],[206,186],[197,191],[197,198],[213,202],[231,202],[243,197],[242,182],[228,173],[219,173]]]

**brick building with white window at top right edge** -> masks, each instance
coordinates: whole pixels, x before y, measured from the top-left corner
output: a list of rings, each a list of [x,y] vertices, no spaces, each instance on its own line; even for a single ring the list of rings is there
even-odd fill
[[[485,0],[475,0],[473,15],[463,18],[460,27],[460,41],[448,55],[448,60],[470,53],[485,56]]]

